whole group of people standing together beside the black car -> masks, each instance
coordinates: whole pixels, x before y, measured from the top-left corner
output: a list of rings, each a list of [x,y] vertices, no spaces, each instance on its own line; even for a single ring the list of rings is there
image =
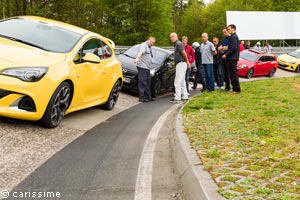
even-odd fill
[[[196,74],[193,89],[197,88],[199,81],[202,83],[202,92],[212,92],[215,89],[224,89],[233,94],[241,92],[237,74],[237,61],[240,55],[240,41],[236,34],[236,26],[230,24],[222,30],[225,39],[219,43],[214,37],[209,41],[207,33],[202,34],[202,44],[194,42],[188,45],[188,37],[183,36],[181,41],[176,33],[170,34],[170,40],[174,44],[174,62],[176,75],[174,80],[175,95],[170,102],[184,102],[189,96],[189,74],[191,64],[196,62]],[[150,89],[150,64],[153,58],[151,47],[155,38],[150,37],[140,46],[140,51],[134,62],[138,69],[139,101],[154,101]],[[225,82],[225,87],[224,87]],[[231,90],[232,85],[232,90]]]

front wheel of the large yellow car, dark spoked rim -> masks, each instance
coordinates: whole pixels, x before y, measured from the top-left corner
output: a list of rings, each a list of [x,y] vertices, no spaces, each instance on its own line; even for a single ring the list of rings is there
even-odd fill
[[[46,111],[40,120],[40,124],[45,128],[57,127],[65,116],[70,106],[72,89],[68,82],[61,83],[53,93]]]

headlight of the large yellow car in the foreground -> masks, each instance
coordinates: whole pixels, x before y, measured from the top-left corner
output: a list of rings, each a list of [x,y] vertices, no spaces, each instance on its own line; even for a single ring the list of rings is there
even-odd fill
[[[26,82],[37,82],[48,72],[48,67],[15,67],[0,72],[0,75],[12,76]]]

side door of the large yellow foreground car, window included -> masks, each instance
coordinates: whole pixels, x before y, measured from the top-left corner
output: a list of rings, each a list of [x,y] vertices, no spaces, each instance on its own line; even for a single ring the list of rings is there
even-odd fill
[[[93,53],[99,56],[100,59],[103,59],[102,41],[98,38],[87,40],[79,50],[74,61],[76,78],[80,88],[78,92],[80,92],[80,96],[85,104],[104,99],[104,95],[107,93],[105,87],[103,87],[107,81],[106,62],[85,62],[82,57],[86,53]]]

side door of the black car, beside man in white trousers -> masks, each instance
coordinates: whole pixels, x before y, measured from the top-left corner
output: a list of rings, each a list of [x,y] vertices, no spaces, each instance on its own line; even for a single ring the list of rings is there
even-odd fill
[[[176,73],[176,69],[175,69],[174,53],[171,53],[166,59],[163,66],[163,79],[166,88],[174,86],[175,73]]]

